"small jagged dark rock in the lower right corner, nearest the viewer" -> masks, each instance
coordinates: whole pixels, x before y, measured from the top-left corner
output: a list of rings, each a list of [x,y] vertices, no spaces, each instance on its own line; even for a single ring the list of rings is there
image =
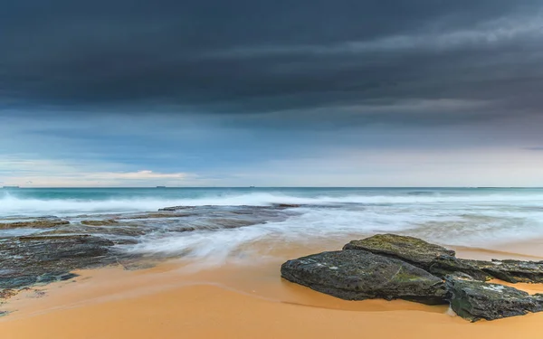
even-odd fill
[[[467,275],[445,278],[447,298],[457,315],[472,322],[543,311],[543,296],[529,296],[517,288],[489,284]]]

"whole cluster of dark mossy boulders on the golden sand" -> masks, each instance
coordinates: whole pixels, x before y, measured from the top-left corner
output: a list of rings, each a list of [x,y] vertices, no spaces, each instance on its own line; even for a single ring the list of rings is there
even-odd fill
[[[543,311],[543,295],[486,282],[543,282],[543,261],[458,259],[453,250],[395,234],[289,260],[281,266],[281,276],[346,300],[450,303],[457,315],[472,322]]]

